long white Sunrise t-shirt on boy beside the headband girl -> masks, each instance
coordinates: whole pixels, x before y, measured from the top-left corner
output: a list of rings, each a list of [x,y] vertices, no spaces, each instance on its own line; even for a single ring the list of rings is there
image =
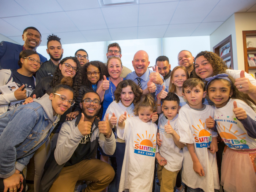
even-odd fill
[[[205,176],[199,176],[193,170],[193,161],[187,147],[183,148],[182,181],[191,188],[201,188],[207,192],[219,189],[219,175],[216,153],[211,154],[212,136],[217,133],[206,127],[206,119],[214,115],[214,108],[206,105],[204,110],[194,110],[188,104],[184,105],[178,116],[180,142],[194,144],[196,156],[201,163]]]

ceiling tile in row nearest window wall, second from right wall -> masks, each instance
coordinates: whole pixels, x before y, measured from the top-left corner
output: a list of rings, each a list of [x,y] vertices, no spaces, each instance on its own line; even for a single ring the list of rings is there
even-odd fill
[[[199,26],[200,23],[169,25],[164,37],[187,37]]]

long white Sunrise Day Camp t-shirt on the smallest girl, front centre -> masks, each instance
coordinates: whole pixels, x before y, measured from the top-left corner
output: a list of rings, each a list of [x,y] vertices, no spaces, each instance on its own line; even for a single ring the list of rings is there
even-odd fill
[[[157,153],[157,125],[144,123],[138,116],[125,120],[125,128],[117,126],[117,136],[125,140],[124,161],[119,192],[152,191],[155,153]]]

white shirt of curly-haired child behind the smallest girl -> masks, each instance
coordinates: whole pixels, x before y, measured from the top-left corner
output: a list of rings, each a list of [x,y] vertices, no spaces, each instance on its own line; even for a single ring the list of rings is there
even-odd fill
[[[106,114],[109,113],[109,120],[112,117],[113,113],[115,114],[115,116],[117,117],[117,123],[119,120],[119,117],[121,116],[121,114],[124,114],[124,112],[126,112],[127,117],[133,117],[135,116],[133,113],[133,109],[134,109],[134,105],[132,103],[132,105],[130,105],[129,107],[126,107],[122,104],[122,102],[116,102],[113,101],[112,103],[110,103],[110,105],[108,106],[108,109],[106,110],[106,113],[104,115],[103,121],[106,120]],[[116,132],[115,132],[116,133]],[[124,143],[123,139],[120,139],[117,137],[116,135],[116,142],[118,143]]]

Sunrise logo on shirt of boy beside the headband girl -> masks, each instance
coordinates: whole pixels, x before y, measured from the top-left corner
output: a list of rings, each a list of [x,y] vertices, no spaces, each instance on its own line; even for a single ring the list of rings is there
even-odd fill
[[[204,123],[202,123],[200,119],[199,121],[201,125],[197,125],[197,127],[192,125],[192,127],[195,129],[193,136],[196,142],[196,147],[197,148],[208,147],[210,146],[211,140],[212,140],[211,131],[209,128],[204,129]]]

